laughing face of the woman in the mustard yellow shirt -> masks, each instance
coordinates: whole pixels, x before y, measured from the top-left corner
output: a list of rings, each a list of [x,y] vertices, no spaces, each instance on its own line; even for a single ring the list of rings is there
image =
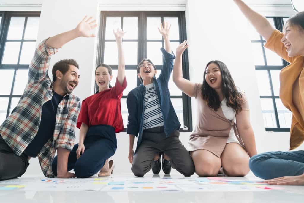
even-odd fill
[[[281,42],[284,43],[284,46],[287,48],[286,51],[288,56],[304,56],[304,29],[287,23],[283,31],[284,36],[282,37]]]

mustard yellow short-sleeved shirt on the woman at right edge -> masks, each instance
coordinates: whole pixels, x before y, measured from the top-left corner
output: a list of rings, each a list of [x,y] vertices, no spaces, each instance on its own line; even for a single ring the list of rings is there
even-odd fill
[[[288,57],[286,47],[281,42],[284,36],[275,30],[264,47],[277,53],[290,63],[280,72],[280,99],[292,112],[290,127],[290,150],[299,147],[304,141],[304,56]]]

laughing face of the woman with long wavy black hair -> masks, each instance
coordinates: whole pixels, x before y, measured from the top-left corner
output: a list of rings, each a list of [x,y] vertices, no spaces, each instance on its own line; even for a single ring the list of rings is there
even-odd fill
[[[217,64],[211,63],[207,66],[205,80],[212,89],[222,87],[222,75]]]

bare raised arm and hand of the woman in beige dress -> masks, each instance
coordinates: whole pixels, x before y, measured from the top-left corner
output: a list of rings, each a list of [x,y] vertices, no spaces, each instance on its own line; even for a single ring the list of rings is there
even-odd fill
[[[184,41],[176,48],[176,58],[173,66],[173,82],[175,85],[188,96],[194,96],[194,83],[183,78],[182,72],[182,55],[188,47],[187,41]]]

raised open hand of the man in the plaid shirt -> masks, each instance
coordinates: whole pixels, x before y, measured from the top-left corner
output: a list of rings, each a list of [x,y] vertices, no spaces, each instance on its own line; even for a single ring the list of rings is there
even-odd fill
[[[85,16],[84,19],[77,25],[75,30],[80,37],[95,37],[95,34],[91,33],[92,29],[97,27],[96,20],[92,20],[93,17]]]

